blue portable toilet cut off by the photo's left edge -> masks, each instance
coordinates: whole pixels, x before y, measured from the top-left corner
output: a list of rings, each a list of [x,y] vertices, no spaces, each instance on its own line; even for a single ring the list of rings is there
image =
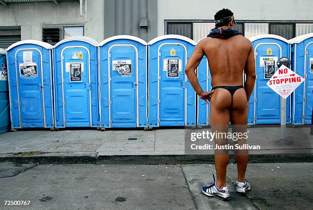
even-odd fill
[[[7,52],[0,48],[0,133],[10,130]]]

